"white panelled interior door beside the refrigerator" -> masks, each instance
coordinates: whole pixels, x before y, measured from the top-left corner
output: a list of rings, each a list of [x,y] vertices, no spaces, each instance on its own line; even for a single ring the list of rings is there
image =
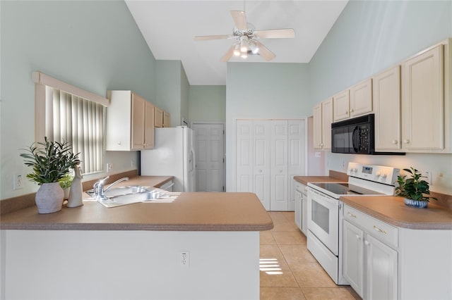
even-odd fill
[[[196,123],[191,127],[195,132],[196,192],[224,192],[224,125]]]

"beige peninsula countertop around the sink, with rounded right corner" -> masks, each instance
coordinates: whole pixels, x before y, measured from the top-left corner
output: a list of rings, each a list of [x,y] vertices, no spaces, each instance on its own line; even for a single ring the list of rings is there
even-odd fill
[[[133,177],[124,185],[159,186],[172,177]],[[154,181],[155,180],[155,181]],[[88,198],[88,195],[87,195]],[[186,192],[174,201],[106,208],[97,201],[57,213],[39,214],[35,206],[1,215],[2,230],[155,230],[263,231],[273,221],[256,194]]]

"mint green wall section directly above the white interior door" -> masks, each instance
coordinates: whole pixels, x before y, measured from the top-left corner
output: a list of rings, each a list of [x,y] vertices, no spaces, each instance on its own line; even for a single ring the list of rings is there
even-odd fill
[[[191,122],[225,122],[226,86],[192,85],[189,89]]]

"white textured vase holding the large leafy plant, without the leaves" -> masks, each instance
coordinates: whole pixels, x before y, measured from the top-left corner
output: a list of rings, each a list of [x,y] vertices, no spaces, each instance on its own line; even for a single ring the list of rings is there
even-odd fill
[[[43,183],[36,192],[35,202],[39,213],[61,211],[64,192],[59,182]]]

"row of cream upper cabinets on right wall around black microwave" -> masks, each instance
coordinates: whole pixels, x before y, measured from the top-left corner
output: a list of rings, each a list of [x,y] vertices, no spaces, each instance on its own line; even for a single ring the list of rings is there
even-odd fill
[[[452,39],[333,96],[333,122],[375,114],[375,150],[452,152]],[[314,106],[314,148],[325,149],[323,106]]]

